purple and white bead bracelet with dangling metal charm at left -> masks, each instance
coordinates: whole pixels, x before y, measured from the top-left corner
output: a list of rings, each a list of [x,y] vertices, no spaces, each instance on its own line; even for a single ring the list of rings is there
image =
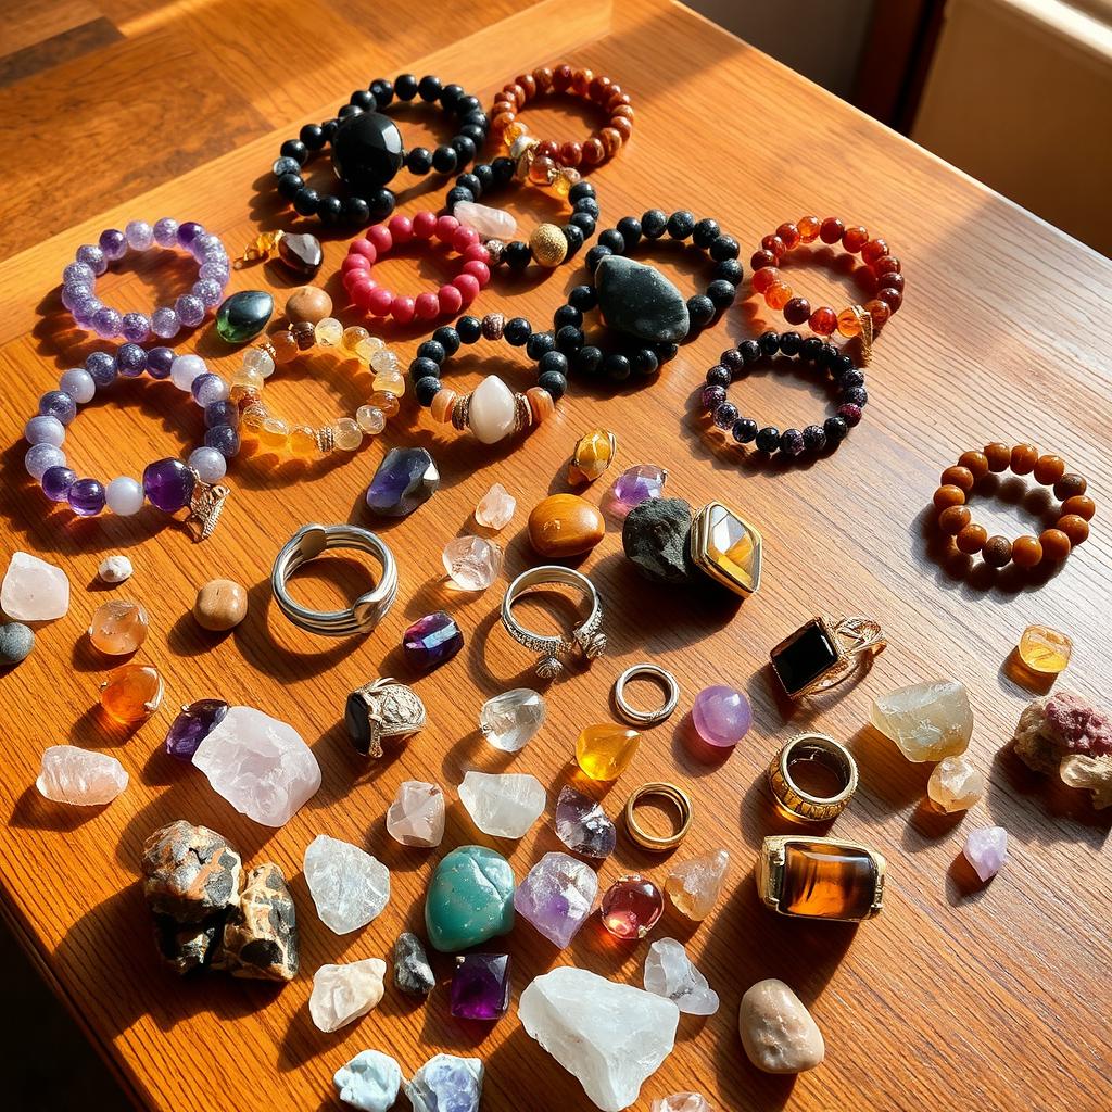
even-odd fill
[[[98,388],[110,386],[118,375],[135,378],[143,370],[188,390],[205,410],[203,447],[195,448],[187,463],[167,458],[148,464],[141,483],[126,475],[107,485],[99,479],[78,478],[62,451],[66,426],[77,416],[79,405],[92,400]],[[23,430],[31,446],[24,457],[27,471],[51,502],[68,503],[80,517],[95,517],[106,506],[128,517],[142,509],[145,499],[169,514],[188,507],[186,524],[193,538],[203,540],[211,534],[229,494],[220,480],[228,459],[239,451],[239,410],[229,400],[228,384],[211,374],[200,356],[176,356],[167,347],[145,351],[138,344],[122,344],[115,355],[91,353],[85,367],[62,374],[58,387],[42,395],[38,414]]]

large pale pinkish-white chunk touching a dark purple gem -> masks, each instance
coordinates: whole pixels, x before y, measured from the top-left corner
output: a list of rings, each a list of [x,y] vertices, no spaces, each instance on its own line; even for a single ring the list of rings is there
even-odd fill
[[[217,794],[264,826],[284,826],[320,787],[320,765],[301,735],[250,706],[228,711],[193,764]]]

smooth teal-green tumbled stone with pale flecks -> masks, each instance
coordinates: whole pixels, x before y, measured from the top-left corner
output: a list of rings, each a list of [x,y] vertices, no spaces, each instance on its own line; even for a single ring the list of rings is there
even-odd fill
[[[456,953],[514,926],[514,871],[500,853],[481,845],[453,850],[433,874],[425,896],[428,941]]]

